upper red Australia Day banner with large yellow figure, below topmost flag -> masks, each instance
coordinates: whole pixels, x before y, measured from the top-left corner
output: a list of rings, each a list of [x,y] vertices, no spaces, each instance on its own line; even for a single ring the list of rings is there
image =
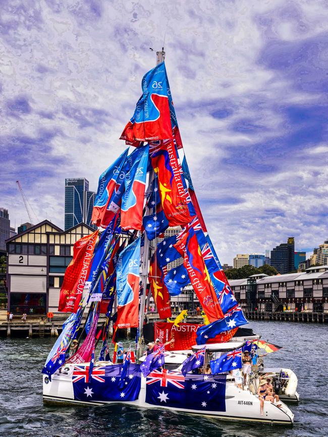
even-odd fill
[[[170,226],[186,225],[191,217],[174,141],[151,144],[149,154],[151,165],[158,177],[161,206]]]

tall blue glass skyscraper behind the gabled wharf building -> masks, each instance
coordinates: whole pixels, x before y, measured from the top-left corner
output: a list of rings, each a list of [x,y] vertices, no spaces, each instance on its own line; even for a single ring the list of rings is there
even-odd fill
[[[79,223],[95,228],[91,223],[94,197],[85,177],[65,179],[65,230]]]

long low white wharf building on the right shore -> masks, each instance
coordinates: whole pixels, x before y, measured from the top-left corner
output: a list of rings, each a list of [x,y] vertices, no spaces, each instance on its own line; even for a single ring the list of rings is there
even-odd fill
[[[229,281],[247,311],[309,311],[328,313],[328,265],[285,275],[253,275]]]

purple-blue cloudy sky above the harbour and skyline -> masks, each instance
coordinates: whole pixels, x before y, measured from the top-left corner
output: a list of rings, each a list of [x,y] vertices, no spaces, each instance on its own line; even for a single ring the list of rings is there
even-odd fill
[[[0,207],[64,226],[65,177],[90,189],[165,37],[185,153],[222,263],[328,238],[326,0],[2,0]],[[37,220],[34,219],[35,222]]]

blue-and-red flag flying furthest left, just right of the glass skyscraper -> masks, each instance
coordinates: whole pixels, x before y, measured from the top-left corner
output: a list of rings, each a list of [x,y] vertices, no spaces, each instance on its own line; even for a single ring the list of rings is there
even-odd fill
[[[92,223],[100,226],[103,216],[105,215],[108,203],[114,193],[117,179],[120,171],[125,163],[129,148],[126,149],[121,156],[99,176],[98,190],[94,199],[92,210]]]

